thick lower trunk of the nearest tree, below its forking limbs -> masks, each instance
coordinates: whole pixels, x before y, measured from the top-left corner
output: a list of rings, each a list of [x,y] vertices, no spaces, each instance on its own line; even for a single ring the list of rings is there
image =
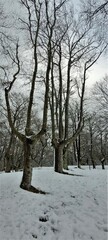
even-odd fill
[[[28,143],[27,139],[24,142],[24,167],[23,167],[23,177],[20,187],[25,190],[30,190],[32,181],[32,164],[30,156],[31,145]]]

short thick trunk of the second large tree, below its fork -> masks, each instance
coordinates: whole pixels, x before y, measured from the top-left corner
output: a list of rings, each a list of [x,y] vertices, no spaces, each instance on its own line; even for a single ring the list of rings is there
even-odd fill
[[[55,172],[63,172],[63,147],[60,144],[55,146]]]

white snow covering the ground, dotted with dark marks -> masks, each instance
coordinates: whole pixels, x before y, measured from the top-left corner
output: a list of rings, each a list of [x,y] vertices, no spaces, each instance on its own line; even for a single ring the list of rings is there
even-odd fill
[[[33,169],[33,186],[46,195],[20,189],[22,172],[1,173],[0,240],[107,240],[108,170],[70,173]]]

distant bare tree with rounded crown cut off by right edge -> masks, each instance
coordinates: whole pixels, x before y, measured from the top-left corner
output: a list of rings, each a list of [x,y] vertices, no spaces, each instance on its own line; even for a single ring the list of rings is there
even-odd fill
[[[108,76],[93,86],[93,99],[97,108],[97,133],[100,139],[99,159],[107,158],[107,122],[108,122]]]

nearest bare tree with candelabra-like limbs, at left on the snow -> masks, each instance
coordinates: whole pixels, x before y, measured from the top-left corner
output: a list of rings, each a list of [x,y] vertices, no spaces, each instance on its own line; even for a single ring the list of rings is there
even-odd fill
[[[56,1],[53,0],[52,3],[49,3],[48,0],[43,1],[35,1],[35,0],[21,0],[20,3],[24,7],[24,11],[26,11],[26,18],[19,18],[21,29],[24,30],[28,37],[29,46],[31,48],[31,53],[33,55],[32,68],[30,66],[30,74],[28,73],[30,79],[30,92],[28,96],[28,107],[26,114],[26,123],[25,123],[25,133],[19,132],[18,129],[15,128],[11,104],[9,95],[13,90],[16,82],[19,78],[21,78],[22,74],[22,63],[21,63],[21,54],[20,51],[24,51],[21,46],[19,46],[19,42],[15,44],[12,42],[12,46],[14,46],[14,50],[12,47],[8,48],[7,56],[11,60],[12,65],[14,66],[14,74],[9,78],[8,81],[4,83],[5,86],[5,100],[8,114],[9,126],[11,128],[12,133],[22,142],[23,151],[24,151],[24,168],[23,168],[23,177],[20,184],[22,189],[33,191],[36,193],[44,193],[43,191],[36,189],[31,185],[32,182],[32,160],[31,160],[31,151],[32,145],[34,142],[36,143],[41,139],[41,137],[46,133],[47,130],[47,112],[48,112],[48,98],[49,98],[49,81],[51,74],[51,61],[52,61],[52,53],[53,53],[53,35],[55,35],[54,29],[57,21],[57,15],[61,7],[63,6],[65,1],[59,1],[56,4]],[[50,5],[51,4],[51,5]],[[52,7],[53,11],[50,11]],[[46,47],[45,55],[46,61],[44,64],[43,77],[45,82],[44,89],[44,104],[43,104],[43,119],[41,124],[41,129],[38,133],[32,131],[32,109],[33,109],[33,101],[35,94],[35,87],[37,77],[39,76],[39,71],[41,68],[42,60],[42,52],[41,47],[42,44]],[[5,46],[4,46],[5,48]],[[12,51],[11,51],[12,50]],[[26,62],[26,60],[24,59]],[[38,70],[39,69],[39,70]],[[5,68],[4,68],[5,70]],[[26,69],[25,69],[26,70]],[[11,74],[12,75],[12,74]],[[24,74],[23,74],[24,76]],[[41,78],[41,77],[40,77]]]

